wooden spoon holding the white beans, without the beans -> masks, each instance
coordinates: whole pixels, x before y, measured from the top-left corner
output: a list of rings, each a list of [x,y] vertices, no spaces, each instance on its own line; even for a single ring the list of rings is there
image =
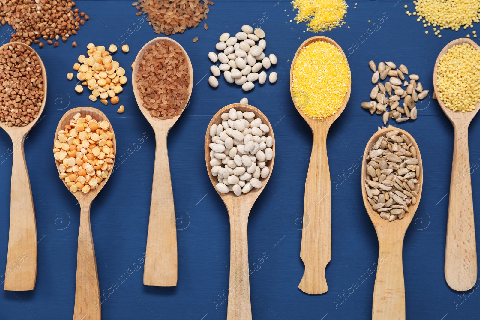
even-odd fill
[[[262,119],[262,123],[266,124],[270,131],[268,135],[274,139],[272,146],[273,157],[267,162],[266,166],[270,169],[270,173],[266,178],[261,179],[262,188],[253,188],[250,192],[236,196],[233,192],[221,193],[216,190],[218,180],[212,175],[212,166],[210,165],[210,143],[212,137],[210,136],[210,127],[215,123],[217,125],[222,123],[222,113],[228,112],[231,108],[237,111],[251,111],[256,118]],[[273,128],[267,117],[257,109],[250,105],[234,103],[223,107],[213,116],[208,124],[207,132],[205,134],[205,161],[207,164],[208,175],[210,180],[218,192],[223,202],[227,206],[228,216],[230,218],[230,284],[228,286],[228,310],[227,320],[251,320],[252,307],[250,305],[250,280],[248,267],[248,235],[247,225],[248,216],[252,209],[253,203],[264,190],[270,175],[272,174],[273,163],[275,160],[275,136]]]

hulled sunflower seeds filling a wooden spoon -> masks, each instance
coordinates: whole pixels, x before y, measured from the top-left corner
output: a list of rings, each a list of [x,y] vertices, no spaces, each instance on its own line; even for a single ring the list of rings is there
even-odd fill
[[[420,191],[417,150],[399,130],[386,132],[368,152],[365,190],[373,210],[380,217],[394,221],[417,203]]]

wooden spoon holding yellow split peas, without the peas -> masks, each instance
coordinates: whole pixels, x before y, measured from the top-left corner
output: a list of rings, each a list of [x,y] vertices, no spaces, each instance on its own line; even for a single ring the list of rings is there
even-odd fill
[[[92,107],[79,107],[68,110],[63,117],[60,119],[57,130],[55,131],[55,139],[57,140],[58,132],[65,129],[65,126],[70,123],[70,120],[73,119],[73,116],[77,113],[81,114],[81,117],[86,115],[92,116],[93,119],[97,121],[107,120],[105,114]],[[108,121],[110,123],[110,121]],[[112,125],[108,128],[110,132],[113,132]],[[115,136],[112,140],[114,154],[117,152],[117,142],[115,141]],[[55,160],[57,169],[60,174],[60,162]],[[80,229],[78,232],[78,252],[77,252],[77,280],[75,286],[75,307],[73,310],[73,320],[101,320],[101,300],[100,300],[100,286],[98,284],[98,273],[96,269],[96,258],[95,258],[95,249],[93,246],[93,236],[92,236],[92,227],[90,225],[90,207],[92,206],[92,201],[95,199],[96,195],[107,183],[110,178],[110,174],[113,169],[109,171],[108,177],[102,180],[94,190],[90,190],[87,193],[78,190],[72,192],[72,194],[77,198],[78,203],[80,204]],[[62,179],[63,184],[70,188],[65,183],[65,180]]]

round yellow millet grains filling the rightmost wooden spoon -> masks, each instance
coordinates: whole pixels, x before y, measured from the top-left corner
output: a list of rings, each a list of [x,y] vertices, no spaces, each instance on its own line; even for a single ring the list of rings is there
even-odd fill
[[[437,64],[439,99],[453,111],[472,111],[480,102],[480,51],[468,43],[447,50]]]

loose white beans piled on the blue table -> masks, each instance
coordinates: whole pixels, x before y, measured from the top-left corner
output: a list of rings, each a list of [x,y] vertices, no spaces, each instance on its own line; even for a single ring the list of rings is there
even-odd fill
[[[273,53],[268,57],[264,53],[267,44],[263,39],[265,33],[262,29],[253,30],[250,25],[245,24],[241,30],[232,37],[229,33],[220,36],[220,42],[215,47],[223,52],[218,55],[215,52],[208,53],[208,58],[213,63],[220,62],[219,66],[210,67],[213,75],[208,78],[208,83],[214,88],[218,86],[216,77],[223,71],[223,76],[228,83],[241,85],[244,91],[252,90],[255,87],[255,81],[258,80],[260,84],[266,82],[267,73],[261,71],[262,68],[270,69],[277,63]],[[276,79],[276,72],[270,72],[268,77],[270,83],[275,83]]]

